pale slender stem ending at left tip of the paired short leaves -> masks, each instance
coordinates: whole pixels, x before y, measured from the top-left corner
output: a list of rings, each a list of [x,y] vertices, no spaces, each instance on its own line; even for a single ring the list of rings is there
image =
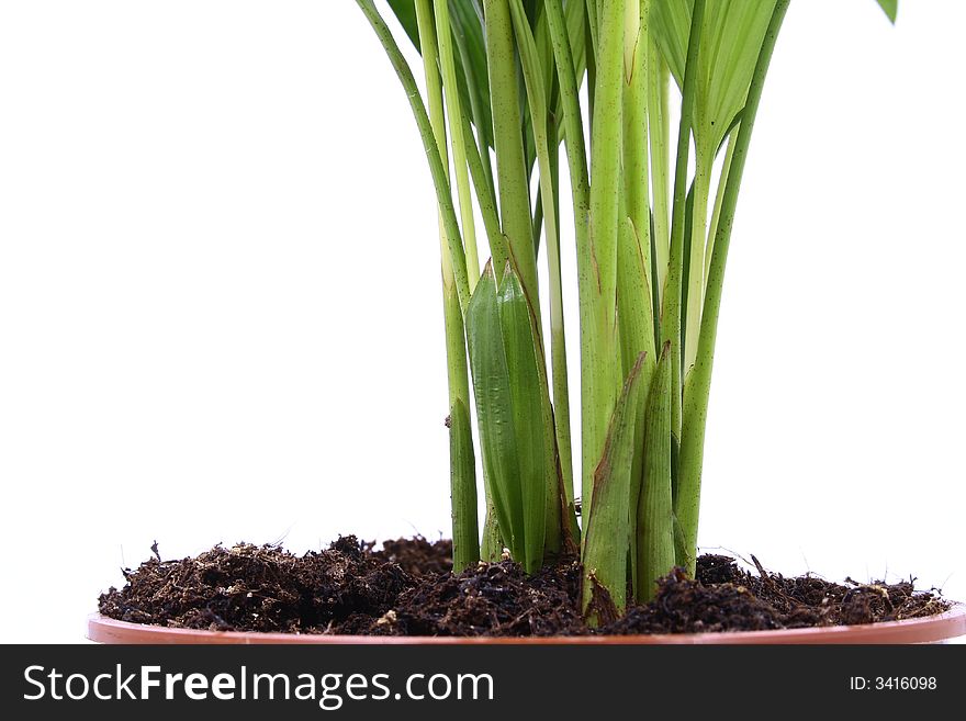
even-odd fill
[[[418,0],[417,8],[420,4],[425,4],[425,0]],[[457,85],[457,64],[453,58],[448,0],[434,0],[434,8],[436,11],[436,40],[439,47],[439,67],[442,70],[442,89],[446,93],[446,113],[449,120],[450,143],[452,145],[453,172],[456,176],[457,196],[460,201],[460,219],[462,221],[463,246],[467,255],[467,274],[469,275],[470,292],[472,293],[480,279],[480,256],[476,251],[473,200],[470,193],[470,179],[467,172],[463,111]],[[427,48],[424,44],[423,57],[428,61],[426,50]],[[445,137],[443,143],[446,143]]]

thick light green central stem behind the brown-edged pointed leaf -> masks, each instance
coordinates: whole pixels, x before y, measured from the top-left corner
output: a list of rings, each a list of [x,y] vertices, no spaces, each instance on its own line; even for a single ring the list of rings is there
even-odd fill
[[[624,2],[603,0],[598,16],[597,88],[591,132],[593,182],[589,198],[588,254],[579,264],[591,269],[589,288],[580,302],[589,309],[581,327],[583,410],[583,512],[593,509],[594,471],[602,460],[614,404],[620,387],[617,353],[617,247],[621,198],[624,111]],[[593,512],[591,510],[591,512]]]

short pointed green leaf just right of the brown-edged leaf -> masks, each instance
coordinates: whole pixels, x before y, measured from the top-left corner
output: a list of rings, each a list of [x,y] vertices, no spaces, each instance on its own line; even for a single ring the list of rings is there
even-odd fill
[[[644,412],[644,475],[637,508],[639,602],[654,597],[654,582],[675,562],[671,491],[671,353],[665,345]]]

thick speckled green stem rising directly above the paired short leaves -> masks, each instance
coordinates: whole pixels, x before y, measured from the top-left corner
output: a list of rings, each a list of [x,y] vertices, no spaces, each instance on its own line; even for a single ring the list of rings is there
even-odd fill
[[[490,103],[493,111],[493,142],[503,234],[524,291],[539,320],[537,258],[530,218],[530,192],[520,133],[520,98],[516,48],[509,0],[484,0],[486,59],[490,67]],[[493,256],[497,280],[507,258]]]

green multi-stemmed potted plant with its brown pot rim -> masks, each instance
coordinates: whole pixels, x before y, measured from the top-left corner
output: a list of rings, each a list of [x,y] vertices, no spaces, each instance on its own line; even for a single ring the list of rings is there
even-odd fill
[[[738,604],[750,586],[762,597],[790,593],[761,567],[753,576],[716,559],[701,566],[697,554],[724,268],[788,0],[390,0],[422,54],[425,101],[373,0],[357,2],[409,99],[436,189],[453,572],[472,585],[497,568],[488,582],[530,578],[570,593],[582,624],[577,638],[594,643],[621,632],[632,642],[712,643],[934,641],[966,632],[961,607],[916,597],[911,585],[901,599],[885,586],[856,586],[863,602],[885,598],[885,618],[892,620],[875,624],[843,616],[836,624],[819,619],[818,628],[642,636],[633,632],[650,628],[652,617],[627,620],[655,595],[666,600],[714,585],[716,573],[724,573]],[[896,1],[879,4],[895,20]],[[679,100],[676,133],[673,99]],[[561,145],[569,188],[561,182]],[[564,194],[573,207],[569,219],[560,209]],[[573,421],[564,223],[572,223],[579,277],[581,387]],[[546,270],[538,267],[541,244]],[[482,266],[481,252],[490,258]],[[572,442],[577,426],[580,466]],[[268,563],[259,554],[271,552],[213,553],[205,563],[221,568]],[[372,554],[358,544],[327,553],[340,555],[312,563],[356,564],[344,576],[377,574],[370,586],[396,583],[367,565]],[[171,566],[158,556],[147,572],[161,577]],[[474,588],[460,593],[482,593]],[[822,593],[842,600],[849,592]],[[897,610],[917,598],[905,616]],[[378,611],[369,631],[400,623],[392,604]],[[419,628],[411,623],[411,631]],[[338,633],[252,635],[101,617],[91,622],[91,638],[345,641]]]

